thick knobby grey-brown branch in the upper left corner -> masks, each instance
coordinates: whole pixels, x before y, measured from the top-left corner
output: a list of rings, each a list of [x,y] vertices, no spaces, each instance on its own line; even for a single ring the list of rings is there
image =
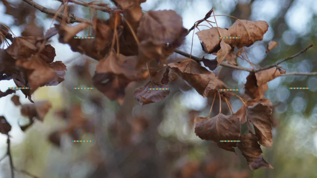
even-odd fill
[[[29,5],[35,7],[37,10],[40,10],[41,12],[45,13],[45,14],[49,14],[52,16],[55,16],[55,14],[57,13],[57,18],[62,19],[63,18],[63,13],[61,12],[57,12],[56,10],[53,9],[47,9],[44,6],[41,6],[40,4],[32,1],[32,0],[23,0],[24,2],[28,3]],[[83,19],[83,18],[79,18],[74,16],[73,13],[68,12],[67,16],[65,16],[66,19],[66,23],[87,23],[89,25],[92,24],[92,22],[90,22],[89,20]]]

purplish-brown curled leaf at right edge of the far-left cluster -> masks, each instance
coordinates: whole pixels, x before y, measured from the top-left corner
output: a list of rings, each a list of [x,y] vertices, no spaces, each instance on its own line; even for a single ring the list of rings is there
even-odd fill
[[[49,68],[53,69],[57,76],[54,80],[50,81],[48,84],[45,84],[45,86],[56,86],[65,80],[67,68],[62,61],[55,61],[50,63]]]

